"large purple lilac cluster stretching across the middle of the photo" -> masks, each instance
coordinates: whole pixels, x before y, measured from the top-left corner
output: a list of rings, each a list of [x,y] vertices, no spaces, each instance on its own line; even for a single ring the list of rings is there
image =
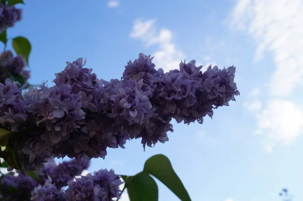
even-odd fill
[[[193,60],[164,73],[152,59],[139,54],[121,80],[107,82],[80,58],[56,74],[55,86],[30,88],[22,99],[16,83],[0,85],[0,123],[24,131],[17,146],[22,170],[41,169],[47,158],[104,158],[107,147],[124,147],[132,138],[144,147],[168,141],[172,119],[203,123],[239,95],[233,66],[201,72]]]

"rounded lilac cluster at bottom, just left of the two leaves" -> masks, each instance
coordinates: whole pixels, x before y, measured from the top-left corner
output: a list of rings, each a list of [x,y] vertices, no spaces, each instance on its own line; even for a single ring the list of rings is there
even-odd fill
[[[123,182],[113,170],[99,170],[94,175],[87,174],[76,181],[69,181],[65,191],[66,200],[110,201],[121,194],[119,186]]]

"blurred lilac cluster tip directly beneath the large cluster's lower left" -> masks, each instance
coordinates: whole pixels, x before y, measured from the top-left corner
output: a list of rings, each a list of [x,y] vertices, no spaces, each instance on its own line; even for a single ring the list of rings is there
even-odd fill
[[[67,185],[67,182],[72,180],[75,176],[80,175],[83,170],[86,170],[89,167],[89,161],[87,159],[72,159],[71,161],[65,161],[58,166],[53,164],[45,166],[42,170],[44,173],[41,176],[41,181],[47,179],[47,176],[52,178],[53,183],[58,189],[61,189],[63,186]]]

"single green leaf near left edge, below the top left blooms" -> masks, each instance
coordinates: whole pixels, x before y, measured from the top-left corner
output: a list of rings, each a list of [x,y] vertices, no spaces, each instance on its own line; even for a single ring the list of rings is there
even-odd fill
[[[27,38],[18,36],[13,39],[13,48],[17,55],[22,55],[28,65],[28,58],[31,51],[31,44]]]

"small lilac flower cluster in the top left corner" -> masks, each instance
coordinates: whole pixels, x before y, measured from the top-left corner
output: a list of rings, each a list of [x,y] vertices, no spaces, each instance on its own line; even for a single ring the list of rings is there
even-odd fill
[[[7,27],[13,27],[17,21],[22,19],[22,10],[15,6],[0,3],[0,33]]]

